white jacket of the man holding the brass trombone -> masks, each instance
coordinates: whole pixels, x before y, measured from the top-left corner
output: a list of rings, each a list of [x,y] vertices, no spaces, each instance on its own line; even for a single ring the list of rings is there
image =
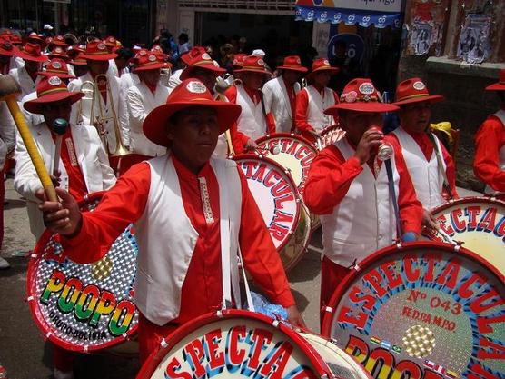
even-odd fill
[[[116,146],[115,133],[114,133],[114,121],[113,121],[113,109],[114,106],[115,115],[117,117],[117,122],[120,126],[122,141],[125,146],[130,143],[129,137],[129,126],[128,126],[128,111],[126,107],[126,101],[124,94],[121,90],[120,81],[115,76],[107,75],[109,85],[111,87],[110,93],[112,93],[113,99],[109,98],[109,93],[107,93],[107,104],[104,104],[104,98],[100,94],[94,96],[94,120],[90,120],[91,117],[91,98],[83,98],[72,105],[72,117],[71,121],[73,124],[84,124],[84,125],[94,125],[96,121],[96,116],[100,115],[100,106],[104,111],[104,118],[107,120],[105,123],[105,131],[107,133],[107,142],[109,144],[109,153],[113,153]],[[77,79],[74,79],[68,84],[69,91],[80,91],[81,85],[84,82],[93,82],[93,77],[90,73],[86,73]],[[88,97],[88,96],[86,96]],[[81,107],[81,113],[78,115],[78,109]]]

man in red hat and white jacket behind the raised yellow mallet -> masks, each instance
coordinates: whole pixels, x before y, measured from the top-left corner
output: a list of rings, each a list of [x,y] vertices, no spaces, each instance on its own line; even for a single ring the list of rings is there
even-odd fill
[[[42,115],[42,122],[34,125],[28,119],[27,125],[34,135],[35,145],[42,156],[45,167],[52,171],[56,134],[52,126],[54,120],[63,118],[69,125],[62,137],[59,170],[61,175],[52,177],[55,185],[60,185],[77,200],[85,194],[104,191],[115,183],[115,176],[109,166],[104,147],[94,127],[74,125],[70,122],[72,104],[84,94],[69,92],[57,76],[45,77],[36,91],[37,97],[25,102],[24,108],[31,114]],[[35,167],[21,137],[15,145],[15,190],[26,198],[26,208],[30,230],[35,238],[45,230],[42,212],[38,208],[35,192],[42,188]],[[55,379],[73,379],[74,355],[53,344]]]

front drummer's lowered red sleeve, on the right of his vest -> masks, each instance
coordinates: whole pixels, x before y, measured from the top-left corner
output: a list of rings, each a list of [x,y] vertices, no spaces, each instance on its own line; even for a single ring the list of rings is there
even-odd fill
[[[249,190],[242,171],[242,219],[239,243],[243,254],[243,263],[254,283],[276,304],[284,307],[294,305],[291,289],[282,267],[279,253],[264,224],[262,214]]]

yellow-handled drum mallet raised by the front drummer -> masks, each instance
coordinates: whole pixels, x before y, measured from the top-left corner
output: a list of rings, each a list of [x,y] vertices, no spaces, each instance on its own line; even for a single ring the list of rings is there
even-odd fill
[[[19,85],[11,75],[0,75],[0,100],[7,103],[7,107],[14,118],[17,130],[25,143],[28,155],[30,155],[30,159],[35,166],[35,171],[42,182],[47,199],[52,202],[57,202],[58,196],[56,195],[51,177],[45,169],[44,161],[35,146],[34,137],[30,133],[30,129],[28,129],[28,125],[26,125],[25,117],[21,113],[19,105],[17,105],[17,101],[15,100],[15,95],[20,92]]]

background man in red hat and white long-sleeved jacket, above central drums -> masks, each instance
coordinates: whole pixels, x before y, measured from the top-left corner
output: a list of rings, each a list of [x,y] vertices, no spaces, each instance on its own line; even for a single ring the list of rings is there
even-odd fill
[[[281,75],[266,82],[262,88],[265,107],[267,113],[273,114],[275,131],[290,133],[295,128],[296,94],[300,92],[298,81],[308,70],[302,66],[298,55],[286,56],[283,65],[277,69],[282,70]]]

